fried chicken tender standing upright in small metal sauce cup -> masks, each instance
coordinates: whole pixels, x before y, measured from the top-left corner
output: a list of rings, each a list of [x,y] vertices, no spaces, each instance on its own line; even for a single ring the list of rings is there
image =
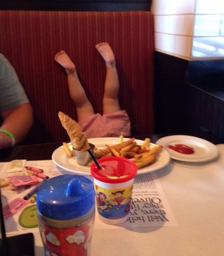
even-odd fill
[[[62,126],[66,129],[67,134],[70,137],[71,144],[75,150],[80,151],[86,144],[86,134],[82,131],[82,128],[74,120],[63,112],[58,112],[58,117]]]

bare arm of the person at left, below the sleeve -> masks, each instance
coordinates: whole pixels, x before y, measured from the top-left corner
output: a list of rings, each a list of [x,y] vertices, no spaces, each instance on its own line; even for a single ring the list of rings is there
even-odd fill
[[[30,103],[24,103],[1,113],[4,120],[0,130],[14,135],[15,145],[22,141],[33,124],[33,109]],[[5,132],[0,132],[0,149],[12,146],[12,139]]]

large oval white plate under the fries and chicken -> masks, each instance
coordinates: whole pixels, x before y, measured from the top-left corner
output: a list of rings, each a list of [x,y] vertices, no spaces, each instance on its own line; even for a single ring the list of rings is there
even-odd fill
[[[127,138],[123,138],[123,141],[128,140]],[[140,140],[135,140],[138,144],[142,144],[143,141]],[[118,144],[118,138],[94,138],[94,139],[88,139],[89,143],[92,143],[95,145],[96,148],[98,149],[102,149],[105,148],[105,145],[115,145]],[[68,145],[70,146],[71,143],[68,143]],[[155,144],[150,143],[150,147],[153,147]],[[63,149],[63,146],[57,148],[54,150],[53,154],[52,154],[52,160],[53,162],[68,171],[72,171],[74,173],[78,173],[78,174],[86,174],[86,175],[90,175],[90,167],[89,166],[82,166],[82,165],[78,165],[75,157],[72,158],[68,158],[65,150]],[[150,172],[150,171],[154,171],[154,170],[158,170],[164,166],[166,166],[170,161],[170,156],[168,154],[168,152],[164,149],[162,149],[160,152],[158,152],[158,155],[156,157],[156,161],[146,167],[140,168],[137,172],[137,174],[141,174],[141,173],[146,173],[146,172]]]

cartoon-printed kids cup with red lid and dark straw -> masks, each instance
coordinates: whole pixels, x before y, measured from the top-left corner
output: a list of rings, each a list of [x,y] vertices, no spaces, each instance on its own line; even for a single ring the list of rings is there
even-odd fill
[[[94,178],[99,219],[107,224],[120,224],[127,220],[137,166],[124,157],[102,157],[90,166]]]

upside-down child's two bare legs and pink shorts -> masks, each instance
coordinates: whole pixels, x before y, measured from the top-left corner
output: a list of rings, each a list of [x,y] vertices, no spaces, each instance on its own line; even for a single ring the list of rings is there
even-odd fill
[[[94,109],[89,99],[87,98],[86,93],[78,79],[75,65],[71,61],[70,57],[66,54],[66,52],[64,51],[58,52],[55,55],[54,59],[60,65],[62,65],[62,67],[64,67],[66,70],[69,92],[70,92],[71,99],[73,100],[77,110],[78,122],[81,121],[81,124],[82,124],[82,121],[86,120],[87,118],[88,124],[87,123],[83,124],[83,127],[82,127],[84,128],[84,131],[85,131],[85,128],[86,129],[89,128],[89,126],[96,121],[96,118],[100,118],[98,122],[108,123],[108,119],[104,121],[102,118],[104,117],[107,118],[109,116],[109,122],[111,120],[112,121],[114,120],[113,122],[115,122],[114,124],[111,124],[112,127],[114,127],[115,129],[117,126],[119,127],[117,133],[119,134],[122,133],[122,131],[119,131],[119,129],[122,129],[124,130],[123,132],[124,135],[128,136],[130,135],[130,120],[126,114],[126,111],[124,110],[121,111],[121,108],[118,102],[119,81],[118,81],[118,74],[116,69],[114,53],[108,43],[99,43],[95,47],[100,53],[100,55],[102,56],[102,58],[104,59],[106,64],[106,79],[105,79],[105,86],[104,86],[102,116],[99,114],[96,114],[96,116],[94,117]],[[113,116],[114,113],[118,115]],[[88,117],[90,116],[94,117],[94,120],[88,120]],[[124,126],[125,128],[123,128]],[[105,132],[103,133],[99,132],[99,135],[105,136],[106,134]]]

